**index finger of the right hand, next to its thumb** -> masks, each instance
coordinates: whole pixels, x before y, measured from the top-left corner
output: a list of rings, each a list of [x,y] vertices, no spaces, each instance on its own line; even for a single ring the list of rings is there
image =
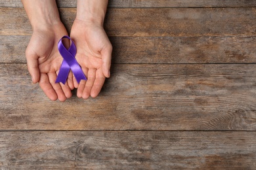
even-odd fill
[[[96,78],[93,84],[93,88],[91,89],[91,97],[97,97],[98,93],[105,82],[106,77],[102,74],[102,70],[98,69],[96,71]]]

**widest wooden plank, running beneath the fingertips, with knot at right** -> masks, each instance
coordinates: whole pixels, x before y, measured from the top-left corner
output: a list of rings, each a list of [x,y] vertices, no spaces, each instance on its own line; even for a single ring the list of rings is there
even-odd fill
[[[26,64],[1,64],[0,129],[256,129],[256,64],[112,65],[96,99],[49,101]]]

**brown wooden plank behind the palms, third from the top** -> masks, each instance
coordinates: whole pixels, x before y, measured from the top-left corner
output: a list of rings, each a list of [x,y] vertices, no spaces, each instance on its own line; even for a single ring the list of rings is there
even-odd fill
[[[0,35],[0,63],[26,63],[30,36]],[[256,63],[256,37],[110,37],[112,63]]]

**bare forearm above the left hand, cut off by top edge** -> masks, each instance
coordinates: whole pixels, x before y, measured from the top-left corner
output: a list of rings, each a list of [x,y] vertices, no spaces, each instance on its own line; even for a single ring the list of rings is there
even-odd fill
[[[60,22],[58,8],[53,0],[22,0],[33,29],[49,27]]]

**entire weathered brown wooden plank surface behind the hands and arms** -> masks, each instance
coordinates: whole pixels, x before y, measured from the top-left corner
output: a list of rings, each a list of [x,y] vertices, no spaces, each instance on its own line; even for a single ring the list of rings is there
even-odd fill
[[[110,0],[104,27],[100,95],[49,101],[22,3],[0,0],[0,169],[256,169],[255,0]]]

